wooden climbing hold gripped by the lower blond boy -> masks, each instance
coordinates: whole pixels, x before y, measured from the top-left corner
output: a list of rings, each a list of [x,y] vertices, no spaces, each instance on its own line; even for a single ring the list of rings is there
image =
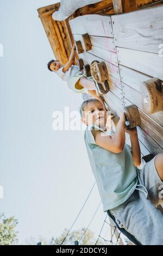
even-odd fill
[[[135,128],[136,126],[140,126],[141,119],[139,110],[136,105],[129,105],[123,108],[125,117],[126,117],[126,126],[130,129]]]

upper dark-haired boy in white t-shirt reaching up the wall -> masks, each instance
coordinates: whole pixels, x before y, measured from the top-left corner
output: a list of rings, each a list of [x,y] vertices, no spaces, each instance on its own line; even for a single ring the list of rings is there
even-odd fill
[[[67,81],[68,87],[75,93],[89,93],[94,98],[103,103],[101,95],[103,94],[98,88],[98,84],[91,78],[87,78],[79,66],[73,65],[76,56],[75,45],[73,45],[70,58],[63,66],[59,60],[51,60],[48,63],[48,69],[64,81]]]

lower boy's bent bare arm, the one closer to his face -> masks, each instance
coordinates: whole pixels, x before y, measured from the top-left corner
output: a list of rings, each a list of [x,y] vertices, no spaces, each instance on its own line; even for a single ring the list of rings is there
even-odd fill
[[[92,134],[95,138],[96,144],[99,145],[99,147],[112,151],[113,153],[121,153],[125,143],[125,121],[126,119],[123,113],[118,121],[114,135],[111,136],[105,136],[103,132],[93,130]]]

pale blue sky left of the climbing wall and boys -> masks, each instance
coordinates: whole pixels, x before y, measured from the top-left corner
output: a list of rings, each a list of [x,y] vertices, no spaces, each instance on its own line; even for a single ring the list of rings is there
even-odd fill
[[[95,181],[84,131],[52,129],[54,111],[82,103],[46,67],[54,55],[37,8],[55,2],[0,0],[0,212],[18,219],[19,243],[69,228]],[[74,229],[87,226],[99,202],[95,187]],[[90,226],[96,235],[104,218],[101,205]]]

